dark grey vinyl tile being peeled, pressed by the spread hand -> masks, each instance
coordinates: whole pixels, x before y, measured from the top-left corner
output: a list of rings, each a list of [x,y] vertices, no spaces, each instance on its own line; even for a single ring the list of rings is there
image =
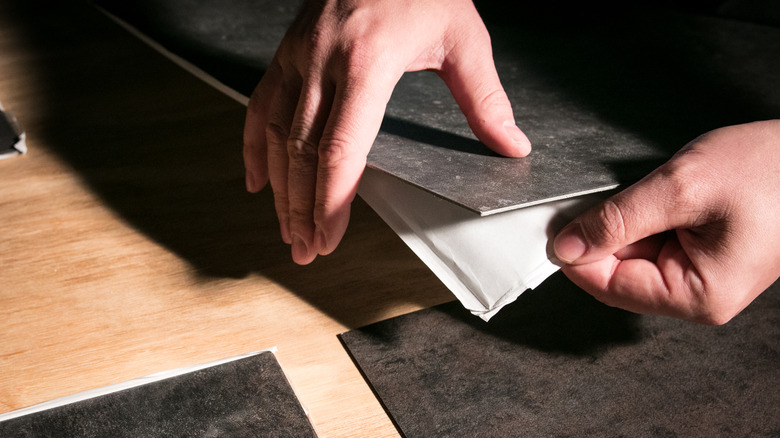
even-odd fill
[[[97,3],[249,95],[300,1]],[[397,86],[368,165],[490,214],[622,186],[706,131],[780,114],[780,29],[653,3],[477,1],[533,152],[491,152],[418,72]]]

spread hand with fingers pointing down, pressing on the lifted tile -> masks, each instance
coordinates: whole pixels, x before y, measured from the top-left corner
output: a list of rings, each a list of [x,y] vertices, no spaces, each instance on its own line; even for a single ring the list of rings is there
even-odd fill
[[[393,88],[426,69],[483,143],[511,157],[530,152],[470,0],[309,1],[296,18],[244,127],[247,189],[270,180],[295,262],[336,248]]]

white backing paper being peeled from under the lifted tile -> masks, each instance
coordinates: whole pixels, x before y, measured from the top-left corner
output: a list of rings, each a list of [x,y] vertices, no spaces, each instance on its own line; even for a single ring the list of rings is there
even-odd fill
[[[555,233],[606,199],[595,193],[479,216],[367,168],[360,196],[474,315],[489,320],[555,273]]]

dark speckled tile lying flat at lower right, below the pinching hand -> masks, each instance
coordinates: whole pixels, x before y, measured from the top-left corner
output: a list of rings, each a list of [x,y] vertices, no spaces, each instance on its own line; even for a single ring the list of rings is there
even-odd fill
[[[780,283],[711,327],[556,274],[489,323],[450,303],[341,340],[407,438],[780,436]]]

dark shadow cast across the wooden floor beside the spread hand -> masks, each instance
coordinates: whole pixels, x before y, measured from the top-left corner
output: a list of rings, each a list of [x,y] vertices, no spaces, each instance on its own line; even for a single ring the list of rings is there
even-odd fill
[[[87,4],[52,4],[46,14],[38,7],[8,6],[20,28],[49,29],[25,36],[30,52],[69,56],[25,60],[46,90],[35,108],[40,123],[27,126],[30,143],[64,160],[120,221],[186,261],[194,281],[259,274],[348,327],[398,305],[451,299],[360,200],[339,251],[293,264],[270,189],[244,188],[245,108]],[[73,16],[83,23],[61,19]]]

